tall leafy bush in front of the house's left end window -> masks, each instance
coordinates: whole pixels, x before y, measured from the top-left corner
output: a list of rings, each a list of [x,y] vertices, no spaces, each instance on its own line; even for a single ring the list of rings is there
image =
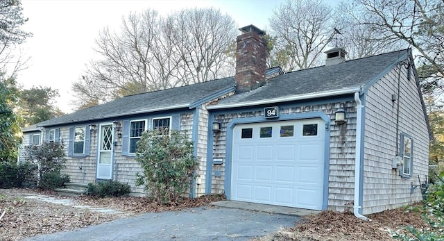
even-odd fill
[[[65,166],[66,161],[62,143],[49,142],[31,145],[26,147],[25,150],[26,160],[35,163],[38,167],[39,188],[60,187],[59,182],[67,179],[66,175],[60,176],[60,170]]]

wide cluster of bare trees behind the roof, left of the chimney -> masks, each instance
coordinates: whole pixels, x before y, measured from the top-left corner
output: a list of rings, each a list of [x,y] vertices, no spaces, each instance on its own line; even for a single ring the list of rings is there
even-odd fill
[[[236,38],[234,21],[213,8],[131,13],[120,31],[96,40],[99,60],[72,85],[80,108],[128,94],[200,83],[232,74],[225,54]]]

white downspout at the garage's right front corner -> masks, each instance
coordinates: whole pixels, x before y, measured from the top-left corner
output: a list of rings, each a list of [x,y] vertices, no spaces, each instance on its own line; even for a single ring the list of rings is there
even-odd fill
[[[365,221],[372,221],[368,217],[361,215],[361,206],[359,206],[359,197],[361,197],[361,133],[362,133],[362,102],[359,99],[359,92],[355,92],[355,102],[357,104],[356,110],[356,145],[355,145],[355,200],[353,205],[353,214],[359,219],[363,219]]]

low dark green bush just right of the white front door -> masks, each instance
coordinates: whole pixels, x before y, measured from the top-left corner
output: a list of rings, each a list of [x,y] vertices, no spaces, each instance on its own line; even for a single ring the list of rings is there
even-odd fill
[[[118,181],[88,183],[87,194],[97,197],[119,197],[130,193],[130,185]]]

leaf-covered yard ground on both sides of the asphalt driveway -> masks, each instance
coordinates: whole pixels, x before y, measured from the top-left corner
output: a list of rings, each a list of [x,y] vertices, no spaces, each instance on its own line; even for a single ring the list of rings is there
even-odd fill
[[[198,199],[185,199],[180,203],[162,206],[140,197],[72,198],[78,205],[120,211],[120,213],[109,214],[24,198],[26,195],[33,194],[46,194],[60,198],[51,192],[0,189],[1,240],[21,240],[42,233],[70,231],[140,213],[183,210],[210,205],[212,201],[223,199],[220,195],[212,195]],[[278,233],[255,240],[392,240],[391,232],[400,230],[400,226],[426,227],[419,212],[408,211],[404,208],[388,210],[368,215],[368,217],[373,221],[362,221],[352,213],[325,211],[318,215],[305,217],[304,222],[293,228],[283,229]],[[260,234],[258,233],[258,235]]]

